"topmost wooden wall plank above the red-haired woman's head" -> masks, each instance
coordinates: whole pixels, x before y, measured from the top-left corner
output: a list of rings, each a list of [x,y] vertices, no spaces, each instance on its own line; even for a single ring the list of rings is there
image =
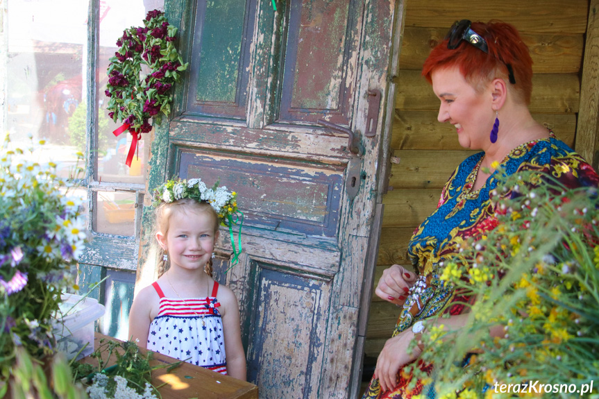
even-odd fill
[[[405,25],[449,28],[453,22],[464,18],[483,22],[500,19],[522,32],[584,33],[588,7],[587,0],[419,0],[407,3]]]

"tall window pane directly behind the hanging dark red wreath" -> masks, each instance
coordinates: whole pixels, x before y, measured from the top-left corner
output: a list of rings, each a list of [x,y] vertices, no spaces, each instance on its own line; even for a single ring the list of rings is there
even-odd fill
[[[118,137],[112,133],[122,122],[115,122],[108,117],[108,98],[104,94],[108,76],[109,60],[118,50],[117,40],[123,35],[125,28],[143,26],[148,11],[164,9],[164,0],[106,0],[101,1],[100,8],[100,51],[99,51],[99,135],[98,135],[98,180],[106,182],[130,182],[143,184],[145,181],[146,161],[149,153],[150,133],[142,134],[139,146],[135,148],[135,156],[131,167],[125,161],[129,152],[132,136],[128,132]]]

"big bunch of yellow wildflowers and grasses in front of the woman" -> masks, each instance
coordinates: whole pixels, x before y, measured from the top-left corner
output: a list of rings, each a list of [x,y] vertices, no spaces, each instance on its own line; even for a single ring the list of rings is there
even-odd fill
[[[424,334],[439,398],[569,398],[599,382],[597,189],[565,189],[550,176],[531,188],[523,181],[541,176],[527,173],[505,178],[511,198],[493,193],[498,228],[445,265],[441,280],[475,301],[458,333],[440,319]]]

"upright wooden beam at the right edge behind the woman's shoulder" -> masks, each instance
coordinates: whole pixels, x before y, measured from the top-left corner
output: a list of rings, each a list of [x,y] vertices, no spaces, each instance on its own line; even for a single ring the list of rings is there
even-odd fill
[[[582,65],[580,112],[575,150],[595,170],[599,164],[599,0],[591,0]]]

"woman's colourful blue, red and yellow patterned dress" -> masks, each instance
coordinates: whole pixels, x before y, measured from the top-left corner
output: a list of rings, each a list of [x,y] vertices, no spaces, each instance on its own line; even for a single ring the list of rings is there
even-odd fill
[[[489,200],[489,193],[498,185],[497,172],[480,189],[472,189],[483,157],[484,153],[476,153],[455,169],[441,192],[437,210],[414,231],[408,256],[414,270],[419,272],[419,278],[400,311],[393,337],[416,321],[434,316],[442,309],[450,314],[460,314],[464,305],[459,303],[471,300],[467,293],[453,292],[446,287],[439,276],[443,271],[443,261],[458,253],[460,243],[497,226],[496,204]],[[522,170],[550,173],[570,188],[599,185],[599,176],[593,168],[552,133],[547,139],[514,148],[500,167],[510,175]],[[511,194],[506,192],[505,196]],[[419,367],[428,373],[432,372],[432,364],[419,362]],[[396,388],[381,394],[378,380],[373,378],[363,399],[409,399],[420,393],[435,398],[434,387],[424,387],[420,381],[409,389],[411,380],[409,373],[400,370]]]

